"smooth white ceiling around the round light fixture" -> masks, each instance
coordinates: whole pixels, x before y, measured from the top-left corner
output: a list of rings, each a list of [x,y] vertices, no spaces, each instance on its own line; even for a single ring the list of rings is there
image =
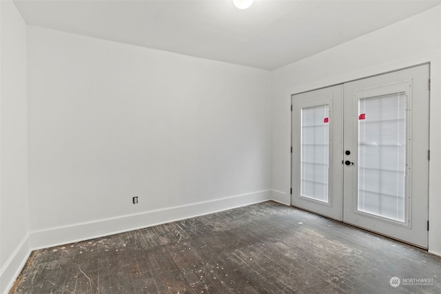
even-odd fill
[[[255,0],[247,10],[231,0],[14,3],[28,25],[274,70],[441,0]]]

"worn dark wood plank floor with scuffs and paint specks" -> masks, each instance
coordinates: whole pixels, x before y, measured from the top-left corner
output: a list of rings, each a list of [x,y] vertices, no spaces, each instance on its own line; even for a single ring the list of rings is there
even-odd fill
[[[264,202],[34,251],[11,293],[441,293],[441,258]]]

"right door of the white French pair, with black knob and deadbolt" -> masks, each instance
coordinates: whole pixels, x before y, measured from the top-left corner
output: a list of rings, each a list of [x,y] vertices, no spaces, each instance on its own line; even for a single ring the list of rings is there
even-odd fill
[[[427,248],[429,65],[346,83],[344,97],[343,220]]]

